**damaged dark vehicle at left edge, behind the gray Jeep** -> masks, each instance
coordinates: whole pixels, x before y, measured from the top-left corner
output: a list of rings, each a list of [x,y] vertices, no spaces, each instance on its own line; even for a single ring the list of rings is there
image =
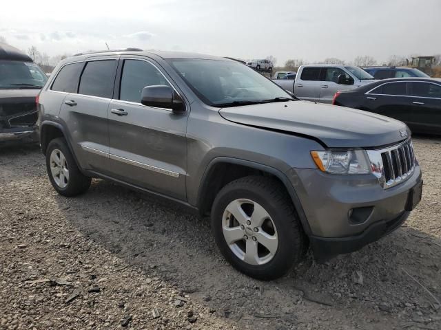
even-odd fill
[[[48,77],[28,55],[0,43],[0,144],[37,142],[35,98]]]

